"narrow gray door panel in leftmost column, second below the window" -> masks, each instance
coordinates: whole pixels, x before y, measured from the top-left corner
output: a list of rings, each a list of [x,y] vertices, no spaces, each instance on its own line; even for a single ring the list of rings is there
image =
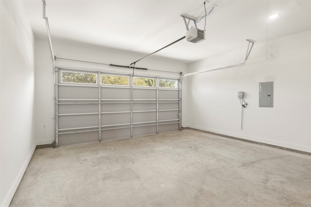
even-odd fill
[[[59,105],[58,113],[91,113],[98,112],[98,104]]]

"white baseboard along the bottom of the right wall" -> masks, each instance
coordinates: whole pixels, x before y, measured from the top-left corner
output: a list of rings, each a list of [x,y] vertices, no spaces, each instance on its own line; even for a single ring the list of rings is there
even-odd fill
[[[226,136],[231,136],[231,137],[236,137],[236,138],[240,138],[240,139],[244,139],[244,140],[250,140],[250,141],[254,141],[254,142],[258,142],[258,143],[271,144],[271,145],[275,145],[275,146],[280,146],[280,147],[285,147],[285,148],[289,148],[289,149],[294,149],[294,150],[299,150],[299,151],[311,153],[311,147],[309,147],[309,146],[303,146],[303,145],[294,144],[294,143],[286,143],[286,142],[270,140],[270,139],[261,138],[261,137],[248,136],[248,135],[244,135],[244,134],[233,133],[233,132],[208,128],[208,127],[201,127],[201,126],[194,126],[194,125],[185,125],[183,127],[200,129],[200,130],[209,131],[209,132],[222,134],[222,135],[226,135]]]

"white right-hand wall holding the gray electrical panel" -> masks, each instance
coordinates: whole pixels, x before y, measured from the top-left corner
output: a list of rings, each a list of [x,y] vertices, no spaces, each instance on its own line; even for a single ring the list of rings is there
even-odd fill
[[[245,53],[246,42],[242,50],[189,64],[189,72],[241,63]],[[268,47],[256,43],[246,65],[185,79],[183,127],[311,152],[311,31],[269,41]],[[267,81],[274,81],[274,108],[259,108],[259,82]],[[249,103],[242,130],[238,91]]]

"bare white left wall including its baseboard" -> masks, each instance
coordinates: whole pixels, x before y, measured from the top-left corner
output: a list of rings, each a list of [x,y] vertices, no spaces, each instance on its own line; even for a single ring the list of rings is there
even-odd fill
[[[7,207],[35,150],[34,36],[23,6],[0,1],[0,206]]]

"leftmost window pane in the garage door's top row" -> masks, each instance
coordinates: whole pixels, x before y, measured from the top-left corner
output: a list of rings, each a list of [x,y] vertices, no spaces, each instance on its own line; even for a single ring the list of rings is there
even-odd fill
[[[93,73],[62,72],[62,82],[96,84],[97,75]]]

